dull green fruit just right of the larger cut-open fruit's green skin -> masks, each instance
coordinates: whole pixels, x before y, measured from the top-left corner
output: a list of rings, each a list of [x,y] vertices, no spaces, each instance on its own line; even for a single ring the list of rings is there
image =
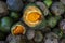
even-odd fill
[[[48,18],[48,26],[54,28],[57,22],[61,19],[61,16],[51,16]]]

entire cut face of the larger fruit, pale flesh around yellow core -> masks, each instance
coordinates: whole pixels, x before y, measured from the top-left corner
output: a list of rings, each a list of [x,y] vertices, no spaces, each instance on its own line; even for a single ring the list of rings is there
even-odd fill
[[[35,27],[41,23],[43,15],[37,6],[30,5],[25,10],[23,18],[29,27]]]

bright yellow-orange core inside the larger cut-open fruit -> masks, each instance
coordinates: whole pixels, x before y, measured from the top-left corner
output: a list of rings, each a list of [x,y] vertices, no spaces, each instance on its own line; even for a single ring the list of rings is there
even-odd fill
[[[31,23],[36,23],[37,20],[40,20],[41,15],[37,12],[31,12],[27,16],[27,20]]]

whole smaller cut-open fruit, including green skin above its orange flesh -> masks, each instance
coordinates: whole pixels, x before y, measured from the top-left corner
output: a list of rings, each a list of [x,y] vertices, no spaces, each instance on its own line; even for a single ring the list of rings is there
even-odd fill
[[[18,22],[17,24],[15,24],[12,28],[11,28],[11,32],[12,34],[16,35],[16,34],[25,34],[26,32],[26,27],[24,26],[24,24],[22,24],[21,22]]]

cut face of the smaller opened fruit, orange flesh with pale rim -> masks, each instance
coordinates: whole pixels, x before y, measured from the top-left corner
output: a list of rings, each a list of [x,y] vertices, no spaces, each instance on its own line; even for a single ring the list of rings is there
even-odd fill
[[[12,34],[25,34],[25,27],[22,25],[16,25],[12,28]]]

